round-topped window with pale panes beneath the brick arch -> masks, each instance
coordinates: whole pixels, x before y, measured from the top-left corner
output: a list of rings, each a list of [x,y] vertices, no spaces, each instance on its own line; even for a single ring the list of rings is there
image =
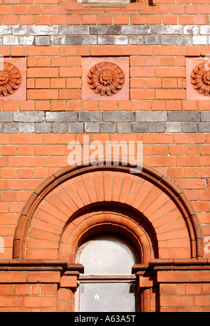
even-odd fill
[[[138,311],[135,276],[137,258],[123,240],[102,237],[78,250],[77,261],[85,267],[76,292],[76,310],[81,312]]]

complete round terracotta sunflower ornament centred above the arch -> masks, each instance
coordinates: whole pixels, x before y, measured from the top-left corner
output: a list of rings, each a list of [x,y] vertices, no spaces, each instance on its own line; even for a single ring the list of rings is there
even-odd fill
[[[114,95],[123,88],[125,75],[117,64],[100,62],[95,64],[87,74],[87,83],[94,93]]]

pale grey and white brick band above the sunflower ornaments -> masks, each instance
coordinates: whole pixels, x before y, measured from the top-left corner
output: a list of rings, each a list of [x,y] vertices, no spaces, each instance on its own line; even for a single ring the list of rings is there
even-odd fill
[[[210,44],[207,25],[6,25],[3,46],[176,45]]]

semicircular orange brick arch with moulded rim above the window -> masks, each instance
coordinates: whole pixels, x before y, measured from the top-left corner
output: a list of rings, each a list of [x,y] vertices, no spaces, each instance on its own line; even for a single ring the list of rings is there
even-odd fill
[[[74,254],[82,239],[81,234],[87,232],[84,227],[87,224],[88,210],[97,207],[108,215],[111,212],[107,210],[108,206],[120,208],[121,220],[125,219],[124,210],[130,212],[130,215],[127,215],[127,224],[116,224],[120,231],[124,228],[127,236],[132,233],[132,237],[138,238],[135,230],[142,221],[145,230],[148,227],[153,230],[150,231],[151,234],[144,231],[139,240],[144,261],[157,255],[159,258],[202,257],[200,224],[183,191],[152,168],[144,165],[141,172],[133,174],[130,172],[130,166],[120,163],[118,166],[68,166],[38,186],[18,220],[13,258],[68,257],[70,262],[67,250],[69,244],[65,239],[67,230],[77,224],[80,218],[85,221],[80,224],[82,230],[78,225],[74,230],[78,232],[78,236],[75,236],[78,242],[73,244],[71,252]],[[130,229],[132,223],[134,226]],[[107,224],[110,224],[109,228],[114,227],[111,221]],[[106,222],[103,225],[106,226]],[[93,225],[90,229],[92,227]],[[68,233],[71,234],[70,231]],[[146,236],[149,240],[144,242],[143,238]],[[154,239],[157,240],[156,244]],[[144,252],[144,245],[147,243],[150,243],[151,247],[148,254]],[[64,244],[66,250],[63,249]]]

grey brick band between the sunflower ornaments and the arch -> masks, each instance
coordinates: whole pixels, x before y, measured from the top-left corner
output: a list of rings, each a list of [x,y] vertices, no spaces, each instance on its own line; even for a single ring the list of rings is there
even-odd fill
[[[209,111],[1,111],[0,132],[210,133],[209,121]]]

